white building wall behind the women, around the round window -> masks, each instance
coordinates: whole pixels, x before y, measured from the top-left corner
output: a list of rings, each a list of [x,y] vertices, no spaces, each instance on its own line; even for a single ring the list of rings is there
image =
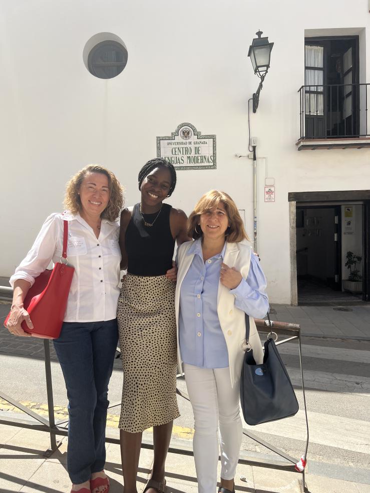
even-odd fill
[[[268,157],[276,202],[263,202],[258,161],[258,242],[273,302],[290,302],[288,192],[370,188],[370,150],[297,152],[298,89],[304,83],[304,33],[370,28],[367,2],[203,0],[4,0],[0,8],[0,275],[10,275],[44,218],[62,209],[69,176],[91,162],[112,169],[139,200],[137,172],[156,154],[156,136],[182,122],[217,136],[217,169],[179,171],[170,202],[189,213],[205,191],[220,188],[246,210],[252,233],[252,162],[247,100],[257,89],[248,47],[261,29],[273,41],[271,68],[252,135]],[[85,43],[119,36],[128,64],[112,80],[85,68]],[[361,38],[361,82],[370,82]],[[370,128],[370,126],[369,126]],[[348,172],[349,169],[355,172]],[[358,180],[358,177],[361,180]]]

